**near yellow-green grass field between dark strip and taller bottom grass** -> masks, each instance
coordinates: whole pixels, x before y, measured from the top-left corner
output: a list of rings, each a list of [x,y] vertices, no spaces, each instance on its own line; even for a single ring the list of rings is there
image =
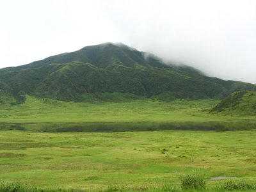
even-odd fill
[[[0,180],[45,190],[162,190],[200,170],[206,189],[215,190],[220,180],[209,179],[219,176],[253,184],[255,139],[256,131],[1,131]]]

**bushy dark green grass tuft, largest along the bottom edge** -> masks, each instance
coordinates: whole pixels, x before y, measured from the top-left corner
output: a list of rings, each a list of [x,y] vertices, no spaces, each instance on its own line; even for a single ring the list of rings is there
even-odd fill
[[[180,181],[180,188],[183,190],[205,189],[205,175],[182,175]]]

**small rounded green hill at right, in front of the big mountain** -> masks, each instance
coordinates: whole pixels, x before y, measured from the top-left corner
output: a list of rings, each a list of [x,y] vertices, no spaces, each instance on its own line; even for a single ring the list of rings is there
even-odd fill
[[[240,91],[231,93],[212,110],[225,115],[256,115],[256,92]]]

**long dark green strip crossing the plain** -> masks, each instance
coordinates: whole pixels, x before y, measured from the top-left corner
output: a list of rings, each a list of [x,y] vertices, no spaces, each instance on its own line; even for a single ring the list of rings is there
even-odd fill
[[[67,127],[60,127],[53,132],[123,132],[123,131],[165,131],[165,130],[191,130],[191,131],[235,131],[256,129],[256,122],[134,122],[134,123],[87,123]]]

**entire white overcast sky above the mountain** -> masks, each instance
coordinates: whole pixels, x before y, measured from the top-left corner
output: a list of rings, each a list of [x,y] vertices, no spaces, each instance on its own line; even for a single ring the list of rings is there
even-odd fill
[[[0,67],[122,42],[256,84],[256,1],[0,0]]]

